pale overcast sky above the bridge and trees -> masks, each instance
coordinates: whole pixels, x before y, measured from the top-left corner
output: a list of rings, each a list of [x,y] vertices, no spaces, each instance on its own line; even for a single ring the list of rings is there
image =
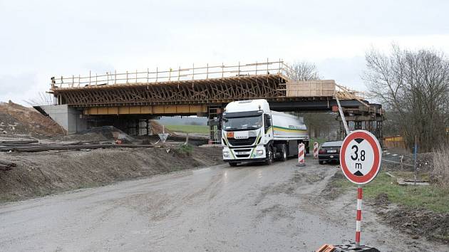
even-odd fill
[[[252,63],[316,63],[365,90],[364,54],[449,53],[449,1],[0,0],[0,101],[36,98],[51,76]]]

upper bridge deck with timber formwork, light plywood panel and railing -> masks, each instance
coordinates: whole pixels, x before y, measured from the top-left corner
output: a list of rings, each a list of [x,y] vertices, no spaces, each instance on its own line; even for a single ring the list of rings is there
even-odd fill
[[[215,65],[86,77],[52,78],[58,104],[73,107],[188,105],[229,103],[264,98],[269,101],[331,100],[334,80],[291,81],[282,61]],[[353,99],[353,98],[350,98]]]

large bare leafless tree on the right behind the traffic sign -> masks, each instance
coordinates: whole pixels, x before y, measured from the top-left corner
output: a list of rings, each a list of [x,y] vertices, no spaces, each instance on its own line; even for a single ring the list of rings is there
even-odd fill
[[[388,55],[366,53],[364,80],[371,95],[391,110],[411,147],[418,137],[422,151],[433,149],[449,122],[449,61],[444,53],[428,49],[408,51],[393,45]]]

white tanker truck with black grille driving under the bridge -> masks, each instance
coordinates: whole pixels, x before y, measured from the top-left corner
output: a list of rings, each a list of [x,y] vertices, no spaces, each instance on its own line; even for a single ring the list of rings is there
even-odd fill
[[[232,167],[241,162],[286,161],[298,154],[299,143],[309,153],[304,118],[272,111],[267,100],[234,101],[224,108],[223,161]]]

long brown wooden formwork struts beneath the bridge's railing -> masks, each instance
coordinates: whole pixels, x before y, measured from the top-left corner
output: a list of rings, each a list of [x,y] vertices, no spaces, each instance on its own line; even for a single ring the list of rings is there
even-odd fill
[[[98,105],[153,105],[228,103],[232,100],[285,97],[282,75],[249,75],[167,83],[89,85],[53,88],[58,104],[78,107]]]

